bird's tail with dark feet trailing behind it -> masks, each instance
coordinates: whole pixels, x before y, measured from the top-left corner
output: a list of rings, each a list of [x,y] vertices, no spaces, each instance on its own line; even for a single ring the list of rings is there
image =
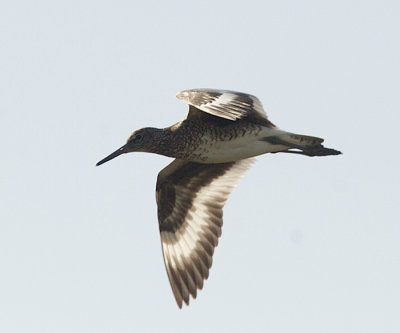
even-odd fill
[[[283,132],[267,137],[264,140],[272,144],[287,146],[288,149],[279,151],[283,153],[294,153],[307,156],[328,156],[341,154],[341,152],[338,150],[324,147],[322,145],[324,139],[317,138],[315,136]]]

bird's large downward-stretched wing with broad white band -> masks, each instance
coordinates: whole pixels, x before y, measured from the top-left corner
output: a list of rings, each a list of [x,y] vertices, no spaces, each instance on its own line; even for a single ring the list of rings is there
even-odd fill
[[[158,175],[156,199],[165,267],[178,306],[196,298],[212,265],[222,208],[254,159],[200,164],[174,160]]]

